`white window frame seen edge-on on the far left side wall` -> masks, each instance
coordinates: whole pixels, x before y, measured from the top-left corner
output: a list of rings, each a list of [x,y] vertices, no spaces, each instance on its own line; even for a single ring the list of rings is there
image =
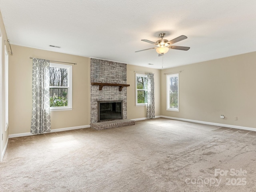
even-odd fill
[[[9,127],[9,53],[4,46],[4,126],[5,131]]]

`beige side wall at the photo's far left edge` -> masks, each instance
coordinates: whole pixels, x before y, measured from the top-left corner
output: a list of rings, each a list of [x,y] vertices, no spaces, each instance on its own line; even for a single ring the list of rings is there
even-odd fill
[[[2,85],[2,94],[0,95],[0,99],[1,99],[1,103],[2,106],[0,106],[0,129],[1,129],[1,133],[3,134],[3,139],[2,139],[2,134],[0,135],[0,153],[2,154],[2,152],[4,151],[4,147],[7,144],[7,140],[8,140],[8,135],[9,135],[9,128],[5,131],[5,124],[4,124],[4,114],[5,114],[5,94],[4,94],[4,90],[5,90],[5,78],[4,78],[4,45],[6,45],[6,47],[8,48],[8,50],[10,50],[9,48],[9,44],[5,41],[8,40],[7,35],[6,35],[6,30],[4,27],[4,22],[2,19],[2,14],[0,12],[0,30],[2,33],[2,53],[0,53],[0,60],[2,62],[2,69],[0,71],[2,71],[2,79],[0,79],[0,84]],[[10,54],[10,53],[9,53]],[[1,87],[1,86],[0,86]],[[1,156],[1,155],[0,155]],[[1,161],[1,159],[0,159]]]

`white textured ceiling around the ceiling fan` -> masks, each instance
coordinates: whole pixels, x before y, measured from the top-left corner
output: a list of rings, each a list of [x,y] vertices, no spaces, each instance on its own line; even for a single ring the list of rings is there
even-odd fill
[[[256,0],[0,0],[0,10],[11,44],[138,66],[256,51]],[[135,53],[154,47],[141,40],[156,42],[160,32],[167,40],[188,36],[174,45],[190,50]]]

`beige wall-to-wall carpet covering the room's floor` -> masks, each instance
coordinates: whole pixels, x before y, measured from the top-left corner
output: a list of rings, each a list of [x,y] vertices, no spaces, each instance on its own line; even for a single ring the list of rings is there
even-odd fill
[[[256,132],[156,118],[11,138],[0,191],[255,192],[255,171]]]

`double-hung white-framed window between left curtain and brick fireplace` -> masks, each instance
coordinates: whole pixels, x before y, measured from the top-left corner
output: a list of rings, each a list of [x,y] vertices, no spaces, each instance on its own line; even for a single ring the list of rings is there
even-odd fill
[[[72,110],[72,66],[50,63],[50,110]]]

